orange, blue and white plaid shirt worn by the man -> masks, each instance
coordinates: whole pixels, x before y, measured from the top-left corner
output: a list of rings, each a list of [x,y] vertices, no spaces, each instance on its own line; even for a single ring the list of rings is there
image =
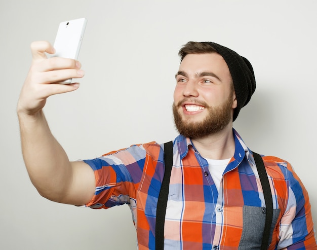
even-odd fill
[[[208,162],[189,138],[174,140],[165,220],[165,249],[259,249],[264,229],[262,187],[252,152],[233,130],[235,153],[224,170],[219,193]],[[269,249],[317,249],[308,194],[291,165],[263,157],[273,198]],[[163,145],[134,145],[85,160],[96,177],[86,206],[128,204],[139,249],[155,249],[155,215],[164,176]]]

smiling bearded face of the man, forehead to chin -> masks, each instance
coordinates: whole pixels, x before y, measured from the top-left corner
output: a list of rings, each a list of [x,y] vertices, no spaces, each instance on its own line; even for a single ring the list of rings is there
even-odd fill
[[[236,99],[229,68],[217,53],[188,54],[176,74],[173,114],[191,138],[217,133],[232,121]]]

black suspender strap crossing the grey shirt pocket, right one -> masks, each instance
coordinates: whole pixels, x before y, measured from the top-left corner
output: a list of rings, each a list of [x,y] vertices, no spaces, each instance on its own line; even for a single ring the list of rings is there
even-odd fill
[[[261,250],[266,250],[268,248],[269,244],[269,237],[271,232],[271,224],[273,219],[273,201],[272,201],[272,193],[270,184],[268,182],[268,177],[266,174],[266,170],[264,167],[264,163],[262,160],[262,157],[255,153],[253,153],[253,157],[255,160],[256,168],[259,173],[261,186],[263,189],[263,195],[265,200],[265,207],[266,207],[266,213],[265,213],[265,226],[264,226],[264,232],[263,232],[263,238],[262,238],[262,245]]]

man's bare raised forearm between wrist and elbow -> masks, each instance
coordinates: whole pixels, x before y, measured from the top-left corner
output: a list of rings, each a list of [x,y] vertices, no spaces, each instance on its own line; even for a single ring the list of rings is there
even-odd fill
[[[43,111],[18,112],[22,153],[31,182],[44,197],[58,201],[71,180],[68,157],[52,135]]]

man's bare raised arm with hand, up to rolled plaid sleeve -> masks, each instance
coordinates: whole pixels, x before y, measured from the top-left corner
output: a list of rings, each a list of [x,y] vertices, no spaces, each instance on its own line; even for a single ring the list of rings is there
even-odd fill
[[[94,194],[93,170],[84,162],[70,162],[52,135],[43,108],[49,96],[76,90],[82,78],[81,63],[67,58],[47,58],[54,48],[48,42],[31,44],[32,64],[17,106],[22,153],[31,182],[44,197],[61,203],[84,205]]]

